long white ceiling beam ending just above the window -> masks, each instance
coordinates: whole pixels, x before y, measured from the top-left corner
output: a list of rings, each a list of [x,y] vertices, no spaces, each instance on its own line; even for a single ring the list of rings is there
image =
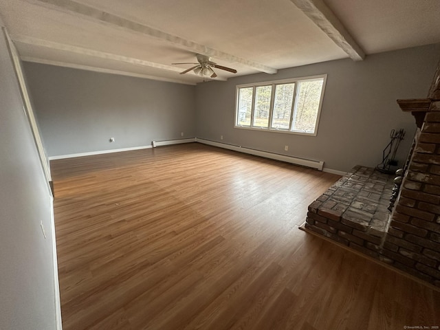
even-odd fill
[[[71,1],[71,0],[27,0],[27,1],[37,5],[43,5],[53,10],[61,10],[69,14],[74,14],[74,15],[79,14],[82,17],[91,19],[93,21],[98,21],[100,23],[107,23],[109,25],[113,25],[118,28],[124,28],[126,30],[131,30],[133,32],[144,34],[146,36],[151,36],[155,39],[166,41],[167,43],[170,43],[175,47],[179,47],[184,50],[189,50],[190,52],[195,52],[197,54],[203,54],[206,56],[219,58],[229,63],[239,63],[241,65],[245,65],[246,67],[250,67],[252,69],[256,69],[260,72],[265,72],[267,74],[276,74],[277,72],[277,69],[273,67],[268,67],[261,63],[250,61],[246,58],[241,58],[238,56],[234,56],[232,54],[221,52],[220,50],[215,50],[206,45],[201,45],[199,43],[195,43],[193,41],[183,39],[179,36],[168,34],[162,30],[150,28],[146,25],[134,21],[130,21],[122,17],[118,17],[114,14],[110,14],[109,12],[103,12],[102,10],[92,8],[89,7],[88,5],[83,5],[82,3],[77,3],[75,1]]]

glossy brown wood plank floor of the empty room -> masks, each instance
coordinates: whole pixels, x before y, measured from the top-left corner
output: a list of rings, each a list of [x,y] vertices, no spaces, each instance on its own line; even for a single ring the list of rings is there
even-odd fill
[[[337,175],[196,143],[51,166],[64,330],[440,325],[439,292],[298,230]]]

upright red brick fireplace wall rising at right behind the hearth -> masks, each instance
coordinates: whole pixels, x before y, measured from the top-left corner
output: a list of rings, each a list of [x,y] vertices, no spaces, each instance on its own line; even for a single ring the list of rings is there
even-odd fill
[[[431,102],[417,134],[382,254],[440,286],[440,101]]]

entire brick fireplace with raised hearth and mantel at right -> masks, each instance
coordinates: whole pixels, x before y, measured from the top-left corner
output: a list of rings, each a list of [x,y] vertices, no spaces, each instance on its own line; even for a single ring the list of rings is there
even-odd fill
[[[428,98],[397,102],[417,133],[393,211],[395,175],[355,166],[310,204],[305,228],[440,287],[440,63]]]

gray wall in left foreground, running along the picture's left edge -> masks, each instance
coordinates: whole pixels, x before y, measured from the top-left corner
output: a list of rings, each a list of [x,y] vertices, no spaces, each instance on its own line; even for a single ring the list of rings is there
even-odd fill
[[[56,329],[52,197],[3,31],[0,77],[0,329]]]

